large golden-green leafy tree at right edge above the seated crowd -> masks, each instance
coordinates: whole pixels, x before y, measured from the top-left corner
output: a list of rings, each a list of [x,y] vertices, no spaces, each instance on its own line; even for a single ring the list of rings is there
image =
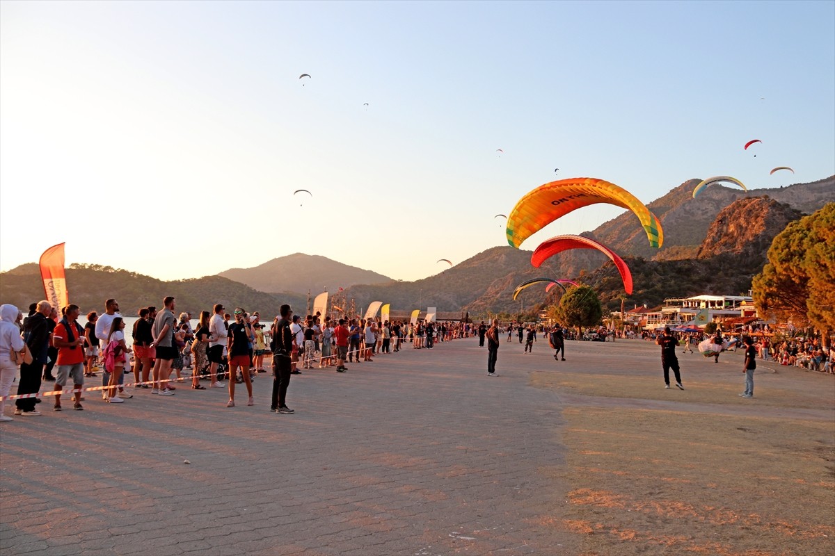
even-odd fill
[[[752,287],[762,315],[811,324],[828,338],[835,329],[835,203],[777,234]]]

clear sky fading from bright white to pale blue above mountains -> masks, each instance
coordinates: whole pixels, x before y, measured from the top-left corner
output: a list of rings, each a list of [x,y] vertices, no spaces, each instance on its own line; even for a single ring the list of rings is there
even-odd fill
[[[299,252],[414,280],[506,245],[494,215],[554,179],[650,203],[691,178],[826,178],[833,21],[797,1],[3,1],[0,270],[66,242],[67,265],[166,280]]]

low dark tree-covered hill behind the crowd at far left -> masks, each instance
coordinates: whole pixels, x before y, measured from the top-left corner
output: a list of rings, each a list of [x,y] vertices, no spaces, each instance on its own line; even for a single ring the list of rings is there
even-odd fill
[[[115,298],[119,300],[122,313],[133,316],[142,307],[161,307],[167,295],[177,299],[178,312],[190,311],[195,317],[200,311],[210,311],[215,303],[223,303],[227,309],[240,306],[247,311],[261,311],[269,318],[278,314],[281,303],[296,307],[306,305],[306,296],[258,292],[220,276],[164,282],[122,269],[73,264],[67,268],[67,283],[70,301],[84,313],[102,311],[104,300]],[[43,299],[38,265],[28,263],[0,273],[0,299],[22,310],[28,308],[29,303]]]

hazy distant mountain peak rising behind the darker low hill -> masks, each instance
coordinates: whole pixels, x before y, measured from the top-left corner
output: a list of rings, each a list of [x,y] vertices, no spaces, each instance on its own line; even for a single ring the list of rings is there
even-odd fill
[[[316,295],[359,283],[392,282],[392,278],[370,270],[304,253],[274,258],[253,268],[230,268],[218,276],[245,283],[261,292],[291,292],[305,296],[308,290]]]

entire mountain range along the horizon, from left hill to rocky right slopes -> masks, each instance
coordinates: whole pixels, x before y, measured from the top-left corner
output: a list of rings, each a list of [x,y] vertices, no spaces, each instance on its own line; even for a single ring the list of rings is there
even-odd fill
[[[626,259],[635,293],[627,306],[655,305],[665,297],[696,293],[744,293],[751,276],[762,269],[772,238],[802,213],[812,213],[835,199],[835,176],[785,188],[741,189],[711,186],[698,198],[692,179],[649,204],[663,224],[665,242],[651,249],[635,215],[625,212],[591,232]],[[524,247],[535,247],[534,245]],[[529,288],[518,301],[515,286],[529,278],[579,278],[595,286],[601,300],[614,308],[624,297],[620,276],[604,254],[591,249],[561,253],[541,268],[530,264],[531,251],[509,246],[489,248],[453,268],[414,282],[394,281],[382,274],[331,259],[294,253],[274,258],[255,268],[230,268],[217,276],[162,282],[149,276],[99,265],[73,265],[68,288],[73,303],[100,309],[104,297],[119,298],[123,308],[161,303],[165,295],[178,298],[180,310],[192,313],[213,303],[227,307],[276,313],[281,303],[305,307],[307,293],[337,293],[345,288],[357,308],[374,300],[392,303],[392,309],[437,307],[439,311],[468,310],[471,314],[534,308],[557,300],[558,288]],[[407,256],[407,255],[406,255]],[[541,291],[540,291],[541,289]],[[43,297],[43,285],[34,263],[0,273],[0,299],[26,307]]]

